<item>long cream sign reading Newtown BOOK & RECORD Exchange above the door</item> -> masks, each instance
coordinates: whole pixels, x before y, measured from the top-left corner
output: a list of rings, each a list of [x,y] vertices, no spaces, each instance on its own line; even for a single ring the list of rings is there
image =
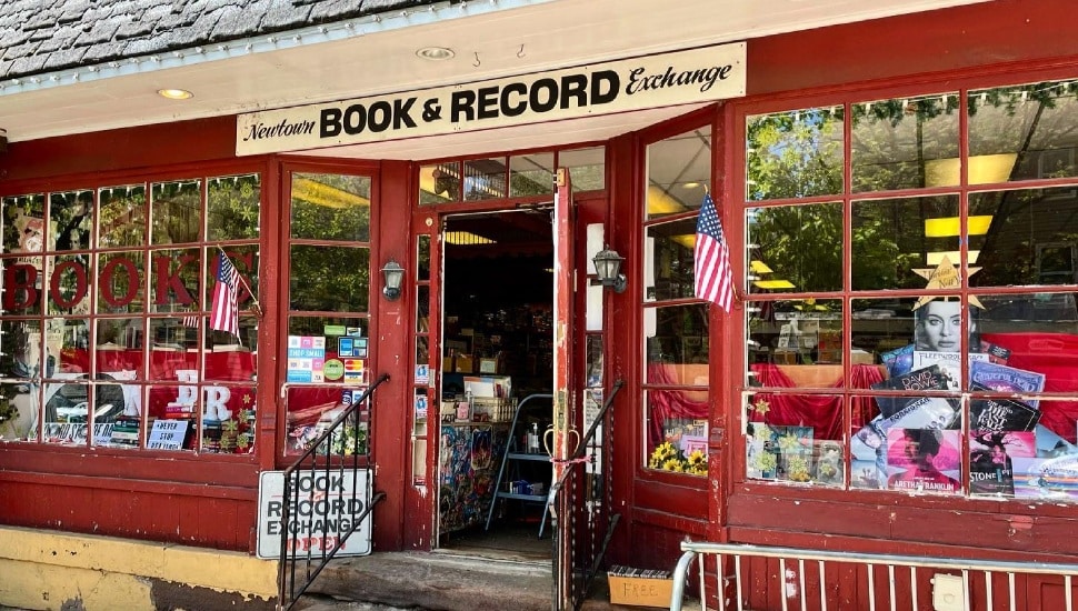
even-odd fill
[[[745,96],[743,42],[241,114],[236,154],[510,127]]]

